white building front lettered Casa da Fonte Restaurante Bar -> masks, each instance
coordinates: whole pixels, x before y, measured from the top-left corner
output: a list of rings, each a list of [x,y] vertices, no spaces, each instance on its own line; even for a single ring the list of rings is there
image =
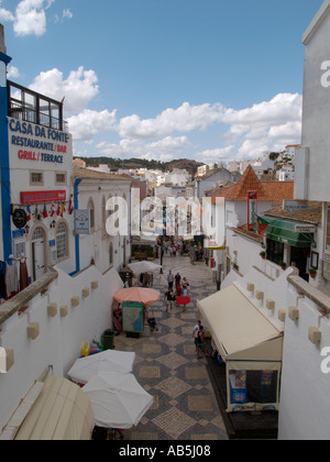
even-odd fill
[[[12,217],[4,237],[4,261],[24,255],[30,282],[50,265],[74,258],[73,238],[73,140],[62,119],[62,103],[8,82],[9,176]],[[29,105],[26,101],[30,101]],[[38,112],[41,102],[45,106]],[[28,107],[26,107],[28,105]],[[48,109],[47,109],[48,105]],[[28,111],[28,122],[20,111]],[[59,127],[58,127],[59,125]],[[61,130],[58,130],[61,128]],[[18,217],[23,216],[23,221]],[[6,217],[3,217],[6,220]],[[15,263],[14,263],[15,264]],[[73,267],[68,264],[69,271]]]

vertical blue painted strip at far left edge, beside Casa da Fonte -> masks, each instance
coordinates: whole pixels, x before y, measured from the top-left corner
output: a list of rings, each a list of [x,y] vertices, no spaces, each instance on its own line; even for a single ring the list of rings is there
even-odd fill
[[[6,66],[11,57],[0,53],[0,61]],[[3,260],[7,262],[12,253],[11,244],[11,206],[10,206],[10,169],[9,169],[9,142],[8,142],[8,91],[7,86],[0,87],[0,180],[1,180],[1,208],[2,208],[2,245]]]

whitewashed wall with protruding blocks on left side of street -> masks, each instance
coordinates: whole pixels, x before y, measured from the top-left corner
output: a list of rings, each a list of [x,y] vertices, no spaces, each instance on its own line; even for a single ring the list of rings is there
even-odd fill
[[[112,328],[111,304],[113,294],[122,287],[116,270],[105,275],[91,266],[70,277],[57,268],[58,278],[45,295],[40,293],[29,302],[29,309],[21,316],[12,316],[0,326],[0,346],[14,351],[14,364],[6,374],[0,374],[0,429],[43,371],[53,366],[54,375],[66,376],[73,362],[79,358],[80,348],[94,339],[101,340],[106,329]],[[46,277],[46,276],[45,276]],[[91,289],[91,280],[98,280],[98,288]],[[82,297],[82,288],[89,288],[89,296]],[[70,298],[79,296],[79,305],[72,306]],[[47,314],[50,302],[57,304],[57,315]],[[67,305],[68,316],[62,318],[59,307]],[[40,336],[31,340],[26,327],[40,324]]]

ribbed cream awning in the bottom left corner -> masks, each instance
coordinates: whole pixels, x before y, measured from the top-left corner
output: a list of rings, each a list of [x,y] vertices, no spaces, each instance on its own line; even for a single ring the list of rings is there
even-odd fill
[[[3,431],[14,440],[90,440],[95,417],[89,397],[63,377],[36,382]]]

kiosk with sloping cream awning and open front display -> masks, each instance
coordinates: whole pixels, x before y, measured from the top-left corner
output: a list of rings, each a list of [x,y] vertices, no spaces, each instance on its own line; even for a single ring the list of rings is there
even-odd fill
[[[226,367],[227,411],[278,410],[283,328],[231,285],[198,301]]]

